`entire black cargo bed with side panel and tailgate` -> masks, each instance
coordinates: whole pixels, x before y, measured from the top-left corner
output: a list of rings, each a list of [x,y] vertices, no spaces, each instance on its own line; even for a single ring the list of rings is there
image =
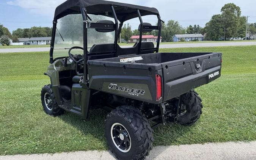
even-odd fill
[[[91,89],[159,104],[220,77],[221,56],[221,53],[150,53],[89,60],[89,84]],[[157,74],[162,80],[160,100],[156,100]],[[110,84],[137,87],[145,93],[134,95],[118,87],[111,89]]]

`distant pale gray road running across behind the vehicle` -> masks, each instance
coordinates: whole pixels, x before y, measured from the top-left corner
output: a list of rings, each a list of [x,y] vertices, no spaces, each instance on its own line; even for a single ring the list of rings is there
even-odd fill
[[[251,42],[211,42],[211,43],[181,43],[181,44],[161,44],[160,48],[185,48],[185,47],[216,47],[216,46],[237,46],[237,45],[256,45],[256,41]],[[121,46],[130,47],[130,46]],[[50,48],[13,48],[13,49],[0,49],[0,53],[10,52],[45,52]]]

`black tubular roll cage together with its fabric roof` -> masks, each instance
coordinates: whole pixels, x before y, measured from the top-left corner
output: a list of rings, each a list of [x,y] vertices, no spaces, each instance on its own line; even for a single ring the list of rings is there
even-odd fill
[[[114,56],[117,57],[118,55],[118,37],[121,34],[121,30],[123,27],[123,23],[129,19],[133,19],[138,17],[140,20],[140,38],[138,42],[138,46],[136,49],[138,49],[135,53],[136,54],[143,54],[145,50],[151,50],[153,52],[159,52],[159,45],[160,45],[160,35],[161,35],[161,29],[162,29],[162,20],[160,18],[159,12],[155,8],[148,8],[143,6],[137,6],[137,5],[129,5],[126,3],[118,3],[118,2],[110,2],[110,1],[104,1],[104,0],[80,0],[80,3],[72,3],[74,0],[68,0],[58,6],[55,10],[55,17],[53,19],[53,30],[52,30],[52,42],[50,46],[50,63],[52,64],[55,60],[53,60],[53,49],[54,49],[54,42],[55,42],[55,34],[56,34],[56,28],[57,28],[57,20],[61,17],[64,17],[68,14],[82,14],[83,17],[83,68],[84,73],[83,77],[85,79],[85,82],[88,82],[88,69],[87,69],[87,61],[89,57],[95,56],[95,55],[104,55],[104,52],[102,53],[90,53],[88,54],[88,44],[87,44],[87,29],[88,28],[95,28],[95,29],[105,29],[105,30],[114,30],[115,31],[115,41],[114,41]],[[75,1],[77,2],[77,1]],[[72,5],[71,5],[72,4]],[[77,5],[77,6],[76,6]],[[69,8],[70,7],[70,8]],[[107,9],[110,7],[110,9]],[[118,11],[115,10],[115,7],[118,8]],[[86,8],[89,8],[90,11],[88,11]],[[103,9],[104,8],[104,9]],[[123,9],[120,9],[123,8]],[[102,9],[102,10],[101,10]],[[125,10],[125,11],[123,11]],[[130,11],[129,11],[130,10]],[[89,22],[88,19],[90,17],[88,14],[95,14],[95,15],[103,15],[112,17],[115,19],[114,24],[104,24],[104,23],[92,23]],[[157,26],[151,26],[147,23],[143,23],[141,16],[146,15],[156,15],[158,22]],[[120,25],[118,27],[118,20],[120,22]],[[141,29],[142,28],[142,29]],[[143,32],[148,32],[152,30],[159,30],[158,37],[157,37],[157,45],[156,47],[151,47],[150,49],[142,49],[142,34]],[[127,53],[126,55],[129,55],[131,53]],[[134,54],[134,52],[133,52]],[[65,58],[65,57],[63,57]],[[58,58],[59,59],[59,58]],[[81,61],[81,62],[82,62]]]

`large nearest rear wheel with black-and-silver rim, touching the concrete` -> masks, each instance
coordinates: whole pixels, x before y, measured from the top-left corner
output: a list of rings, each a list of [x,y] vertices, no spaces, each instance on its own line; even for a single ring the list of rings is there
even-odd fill
[[[108,114],[105,135],[110,150],[121,160],[143,160],[154,141],[148,119],[130,106],[118,107]]]

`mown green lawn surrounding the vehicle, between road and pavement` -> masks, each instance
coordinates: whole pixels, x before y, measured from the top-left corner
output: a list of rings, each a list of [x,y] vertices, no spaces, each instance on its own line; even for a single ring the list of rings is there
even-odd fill
[[[154,129],[154,145],[256,140],[256,46],[161,49],[160,52],[222,52],[222,76],[196,89],[203,115],[196,124],[168,123]],[[106,150],[104,119],[66,112],[44,113],[40,91],[49,53],[1,53],[0,155]]]

